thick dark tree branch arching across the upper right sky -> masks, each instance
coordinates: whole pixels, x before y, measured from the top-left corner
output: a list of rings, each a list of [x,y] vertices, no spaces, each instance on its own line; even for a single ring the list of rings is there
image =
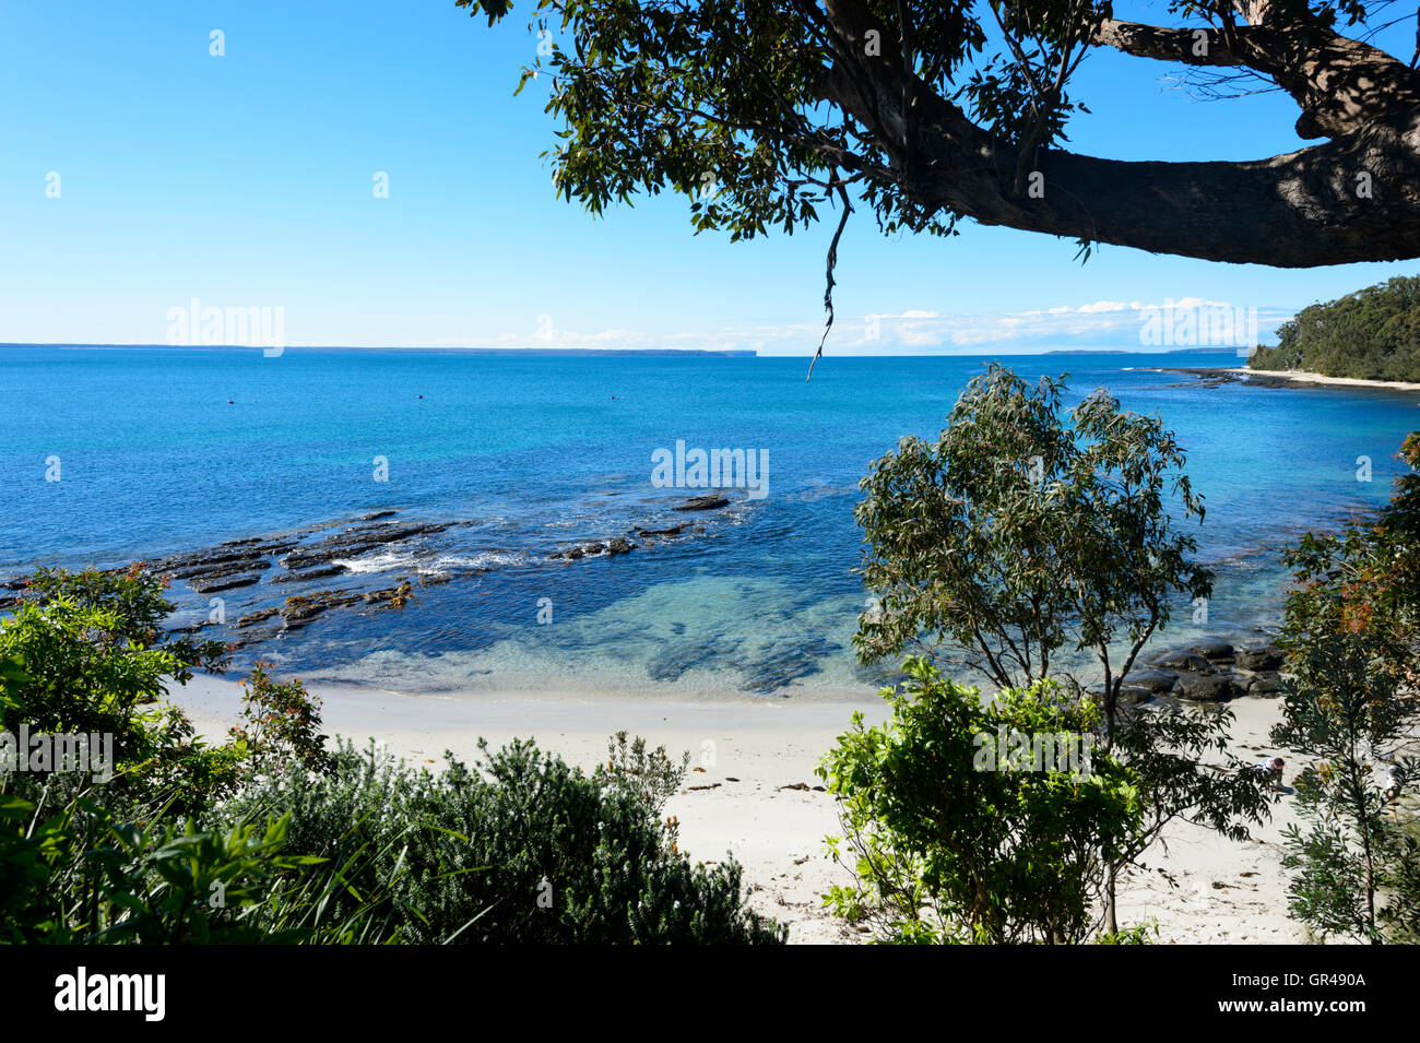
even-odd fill
[[[826,9],[856,38],[873,27],[856,0],[826,0]],[[1242,38],[1251,31],[1238,28]],[[836,68],[818,88],[851,116],[883,126],[879,140],[902,190],[927,211],[1152,253],[1288,268],[1400,260],[1416,255],[1420,243],[1420,89],[1411,104],[1363,121],[1335,140],[1251,162],[1119,162],[1047,150],[1037,162],[1044,196],[1025,199],[1012,190],[1018,152],[1011,143],[919,82],[920,115],[903,148],[899,64],[869,62],[859,71],[872,77],[870,96],[843,84]],[[905,170],[910,176],[902,176]]]

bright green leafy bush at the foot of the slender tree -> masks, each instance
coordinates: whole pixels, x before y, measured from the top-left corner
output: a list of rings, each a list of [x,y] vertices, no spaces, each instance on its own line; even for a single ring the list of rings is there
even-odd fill
[[[1058,758],[1089,751],[1098,707],[1049,681],[987,702],[923,658],[905,670],[902,690],[882,691],[892,719],[865,727],[855,714],[819,766],[842,799],[831,850],[855,876],[826,904],[882,941],[1082,941],[1143,820],[1123,763]],[[998,742],[1012,732],[1035,742]],[[1055,758],[1035,745],[1044,736]]]

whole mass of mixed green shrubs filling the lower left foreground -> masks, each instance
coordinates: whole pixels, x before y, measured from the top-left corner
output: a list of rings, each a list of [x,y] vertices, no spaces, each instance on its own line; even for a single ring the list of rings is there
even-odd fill
[[[45,572],[0,620],[0,732],[112,736],[112,762],[0,772],[0,941],[737,942],[736,863],[693,864],[662,805],[684,773],[625,735],[592,773],[531,742],[415,771],[325,748],[264,667],[212,745],[165,702],[220,646],[159,640],[163,580]],[[74,751],[71,751],[74,752]]]

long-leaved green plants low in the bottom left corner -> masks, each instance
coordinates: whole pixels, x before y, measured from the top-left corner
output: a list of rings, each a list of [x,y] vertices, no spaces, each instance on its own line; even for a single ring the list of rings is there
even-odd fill
[[[398,939],[376,853],[293,854],[287,827],[287,817],[227,830],[121,822],[85,796],[45,816],[0,795],[0,944]]]

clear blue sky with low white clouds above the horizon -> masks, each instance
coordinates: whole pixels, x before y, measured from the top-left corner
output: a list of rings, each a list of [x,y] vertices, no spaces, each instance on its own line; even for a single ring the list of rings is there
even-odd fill
[[[1116,16],[1166,20],[1163,4]],[[525,17],[488,30],[453,0],[4,0],[0,342],[162,343],[169,311],[197,298],[283,308],[291,345],[812,352],[831,227],[731,244],[693,236],[677,197],[599,220],[558,202],[538,158],[545,91],[513,96],[535,47]],[[1302,146],[1285,95],[1196,102],[1167,89],[1169,72],[1092,54],[1075,92],[1093,114],[1071,146],[1119,159]],[[1074,254],[970,223],[953,240],[883,238],[861,213],[828,351],[1132,348],[1139,307],[1169,299],[1257,308],[1267,339],[1312,301],[1414,271]]]

